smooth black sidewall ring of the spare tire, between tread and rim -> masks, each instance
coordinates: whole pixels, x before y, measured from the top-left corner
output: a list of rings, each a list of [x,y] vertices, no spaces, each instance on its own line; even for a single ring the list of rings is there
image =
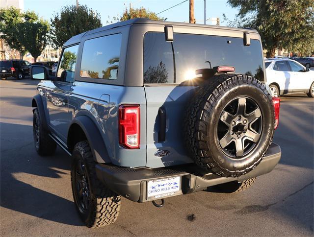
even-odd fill
[[[217,124],[224,107],[233,99],[243,96],[253,99],[260,107],[262,132],[259,142],[252,151],[237,159],[227,156],[222,151],[217,137]],[[230,173],[232,173],[234,176],[238,176],[249,172],[262,160],[273,137],[274,110],[269,97],[253,84],[234,84],[226,92],[216,97],[215,102],[212,102],[212,104],[213,108],[209,111],[209,116],[207,117],[207,135],[203,135],[203,139],[206,141],[206,149],[202,149],[204,156],[212,158],[216,165],[219,166],[219,170],[216,172],[219,175],[230,176]],[[208,164],[208,168],[212,168],[210,164]]]

